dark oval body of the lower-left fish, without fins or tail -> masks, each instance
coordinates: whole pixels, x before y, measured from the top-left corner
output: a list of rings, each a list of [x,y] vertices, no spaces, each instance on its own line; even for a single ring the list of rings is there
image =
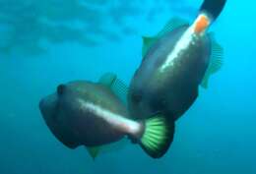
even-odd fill
[[[53,134],[71,147],[119,141],[126,134],[126,124],[132,122],[126,119],[127,109],[110,89],[85,81],[59,86],[58,91],[42,99],[39,106]],[[50,108],[53,114],[47,114]],[[124,128],[119,122],[123,122]],[[58,130],[55,125],[62,126],[66,132],[58,133],[62,129]]]

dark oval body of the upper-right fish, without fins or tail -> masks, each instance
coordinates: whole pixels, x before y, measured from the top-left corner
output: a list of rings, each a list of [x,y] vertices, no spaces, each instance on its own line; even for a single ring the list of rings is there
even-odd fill
[[[180,27],[162,36],[135,73],[128,100],[131,114],[138,119],[162,111],[176,120],[197,98],[210,61],[211,41],[207,34],[194,35],[173,57],[176,43],[188,29]]]

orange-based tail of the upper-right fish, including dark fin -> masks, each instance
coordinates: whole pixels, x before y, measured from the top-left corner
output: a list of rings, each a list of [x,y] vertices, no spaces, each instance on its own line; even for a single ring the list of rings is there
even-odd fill
[[[222,13],[226,0],[204,0],[195,22],[195,32],[207,29]]]

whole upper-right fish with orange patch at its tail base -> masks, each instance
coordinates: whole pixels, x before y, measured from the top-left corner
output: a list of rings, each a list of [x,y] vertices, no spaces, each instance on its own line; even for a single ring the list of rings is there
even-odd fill
[[[144,37],[143,60],[127,93],[134,119],[149,119],[157,113],[174,127],[195,102],[199,87],[208,87],[209,78],[223,65],[224,52],[208,29],[225,2],[204,0],[191,25],[174,18],[156,36]]]

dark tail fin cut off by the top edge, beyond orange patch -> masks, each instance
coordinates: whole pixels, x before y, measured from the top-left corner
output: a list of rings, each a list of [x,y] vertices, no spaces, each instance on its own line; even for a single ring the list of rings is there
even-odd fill
[[[200,12],[207,13],[215,21],[224,9],[226,0],[204,0]]]

